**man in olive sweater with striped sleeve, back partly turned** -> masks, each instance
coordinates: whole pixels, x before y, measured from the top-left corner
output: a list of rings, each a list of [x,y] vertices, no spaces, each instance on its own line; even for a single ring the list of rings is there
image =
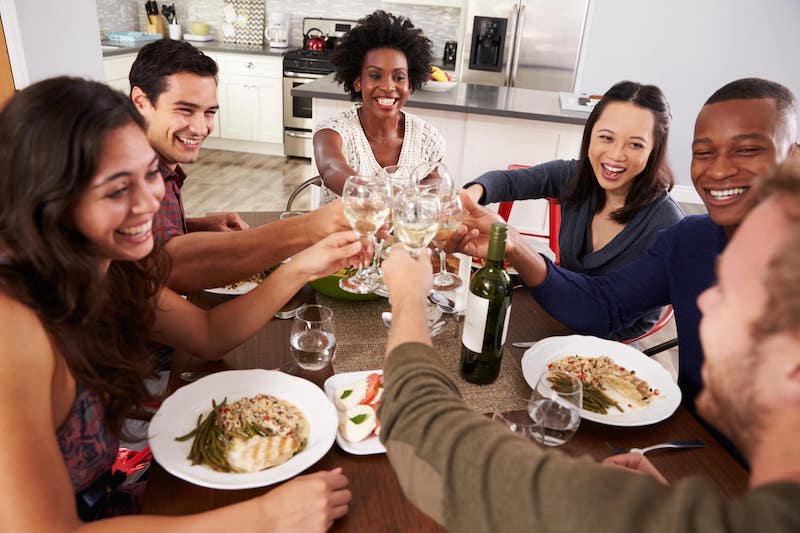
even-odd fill
[[[800,531],[800,164],[767,189],[699,299],[698,408],[747,456],[743,498],[699,476],[669,487],[642,455],[611,468],[543,451],[468,409],[427,334],[430,263],[398,249],[383,265],[393,318],[379,417],[411,501],[451,531]]]

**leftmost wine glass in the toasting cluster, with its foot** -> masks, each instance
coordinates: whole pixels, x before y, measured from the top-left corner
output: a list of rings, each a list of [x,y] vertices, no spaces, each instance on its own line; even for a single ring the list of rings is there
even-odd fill
[[[350,226],[361,240],[364,249],[390,212],[391,187],[379,176],[350,176],[342,189],[342,210]],[[339,287],[347,292],[367,294],[379,283],[364,271],[363,261],[358,263],[358,272],[339,281]]]

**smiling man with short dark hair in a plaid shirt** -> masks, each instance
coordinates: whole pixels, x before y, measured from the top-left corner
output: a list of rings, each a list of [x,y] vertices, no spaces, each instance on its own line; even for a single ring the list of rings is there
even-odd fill
[[[131,99],[147,121],[166,195],[154,220],[156,238],[172,258],[168,285],[178,291],[217,287],[265,270],[322,237],[348,229],[341,204],[248,230],[236,213],[186,218],[181,163],[197,160],[214,129],[217,65],[183,41],[143,47],[130,72]]]

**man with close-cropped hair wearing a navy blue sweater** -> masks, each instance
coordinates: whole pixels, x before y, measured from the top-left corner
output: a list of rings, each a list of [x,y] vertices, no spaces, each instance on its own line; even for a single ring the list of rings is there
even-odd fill
[[[717,256],[754,205],[756,181],[797,149],[796,135],[797,104],[786,87],[757,78],[731,82],[706,101],[695,123],[692,181],[708,215],[684,218],[664,230],[644,257],[604,276],[556,267],[513,231],[506,258],[537,302],[579,333],[606,336],[648,309],[672,304],[680,347],[678,383],[693,409],[703,360],[697,295],[714,283]],[[465,224],[473,229],[460,228],[451,243],[461,239],[466,253],[485,254],[487,228],[497,215],[469,198],[465,206],[470,213]]]

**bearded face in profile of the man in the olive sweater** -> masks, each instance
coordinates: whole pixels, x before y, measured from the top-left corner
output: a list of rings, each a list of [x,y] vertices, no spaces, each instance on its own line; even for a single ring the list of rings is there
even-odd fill
[[[754,338],[753,326],[767,309],[764,273],[788,235],[787,227],[777,199],[754,209],[720,256],[717,284],[697,300],[705,355],[697,408],[743,451],[755,442],[759,413],[771,402],[776,385],[768,363],[774,350],[769,349],[769,339]]]

